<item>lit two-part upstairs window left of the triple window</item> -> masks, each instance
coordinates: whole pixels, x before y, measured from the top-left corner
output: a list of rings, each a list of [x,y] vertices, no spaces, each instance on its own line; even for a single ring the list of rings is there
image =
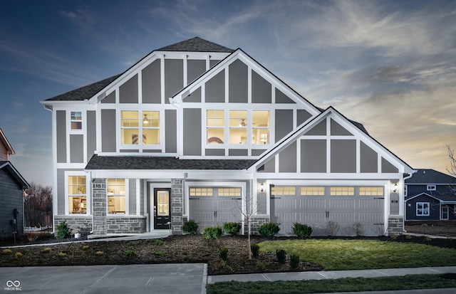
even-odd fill
[[[160,145],[160,111],[120,111],[123,145]]]

